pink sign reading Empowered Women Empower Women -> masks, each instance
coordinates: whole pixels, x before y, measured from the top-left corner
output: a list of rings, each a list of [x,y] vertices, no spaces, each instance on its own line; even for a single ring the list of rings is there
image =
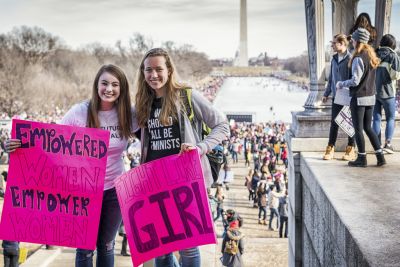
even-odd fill
[[[108,131],[13,120],[0,239],[95,249]]]

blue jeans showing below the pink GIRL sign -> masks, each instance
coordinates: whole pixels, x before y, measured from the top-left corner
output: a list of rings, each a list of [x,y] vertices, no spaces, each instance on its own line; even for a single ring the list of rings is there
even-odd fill
[[[200,267],[200,250],[198,247],[187,248],[179,251],[182,267]],[[174,267],[174,255],[165,254],[156,258],[156,267]]]

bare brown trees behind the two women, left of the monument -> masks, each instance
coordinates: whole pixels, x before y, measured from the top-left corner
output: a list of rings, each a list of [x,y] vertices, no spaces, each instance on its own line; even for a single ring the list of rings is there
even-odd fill
[[[211,72],[207,56],[192,46],[177,46],[172,41],[161,46],[171,53],[183,80],[200,79]],[[0,34],[0,113],[12,116],[69,108],[90,96],[97,70],[108,63],[125,71],[133,89],[140,60],[152,47],[153,41],[138,33],[127,45],[121,41],[113,47],[92,43],[81,49],[69,48],[38,27],[22,26]]]

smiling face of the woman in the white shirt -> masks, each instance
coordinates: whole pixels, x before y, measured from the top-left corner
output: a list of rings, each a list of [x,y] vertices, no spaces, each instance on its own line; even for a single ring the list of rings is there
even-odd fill
[[[104,72],[97,84],[100,97],[100,110],[110,110],[120,95],[120,82],[114,75]]]

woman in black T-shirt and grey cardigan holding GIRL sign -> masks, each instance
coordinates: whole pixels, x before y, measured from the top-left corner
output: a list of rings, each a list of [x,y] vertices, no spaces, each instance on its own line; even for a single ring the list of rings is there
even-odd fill
[[[161,48],[148,51],[137,74],[135,107],[141,127],[141,162],[149,162],[169,155],[197,149],[201,155],[207,187],[213,179],[206,153],[229,136],[229,125],[199,92],[192,90],[191,101],[194,112],[189,119],[185,108],[187,85],[178,83],[176,69],[168,52]],[[211,132],[202,139],[203,122]],[[161,134],[160,134],[161,133]],[[200,267],[200,252],[197,247],[179,251],[183,267]],[[173,266],[173,255],[168,253],[156,258],[157,267]]]

